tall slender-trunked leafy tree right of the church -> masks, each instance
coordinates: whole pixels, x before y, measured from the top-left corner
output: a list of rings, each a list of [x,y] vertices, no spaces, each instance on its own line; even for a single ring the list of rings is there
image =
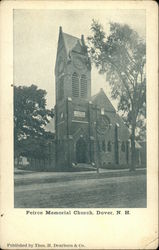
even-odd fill
[[[128,25],[110,23],[108,35],[93,20],[88,37],[89,53],[99,73],[106,74],[112,98],[131,133],[131,169],[135,169],[135,133],[145,126],[146,45]]]

